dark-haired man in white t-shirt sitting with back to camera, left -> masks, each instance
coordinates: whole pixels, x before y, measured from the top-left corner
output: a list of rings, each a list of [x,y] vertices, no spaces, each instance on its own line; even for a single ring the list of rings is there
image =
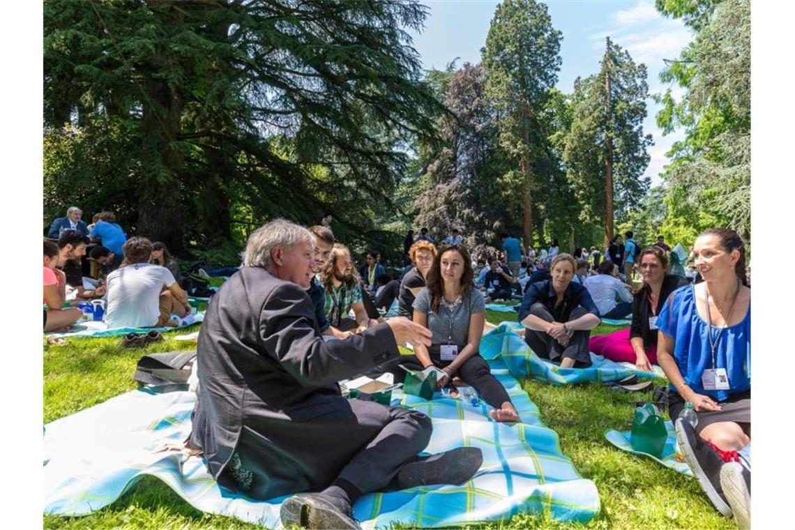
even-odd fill
[[[191,311],[188,295],[173,274],[149,263],[152,242],[130,238],[124,244],[124,261],[107,276],[108,327],[176,327],[171,315]]]

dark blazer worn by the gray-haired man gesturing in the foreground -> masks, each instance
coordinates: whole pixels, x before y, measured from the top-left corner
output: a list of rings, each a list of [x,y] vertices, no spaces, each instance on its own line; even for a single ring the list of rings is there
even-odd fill
[[[283,435],[285,422],[307,422],[349,408],[336,381],[398,356],[386,323],[325,342],[303,288],[260,267],[242,267],[212,297],[204,316],[190,444],[204,451],[212,476],[234,489],[222,471],[243,427],[267,440],[269,430],[273,437]],[[320,451],[339,443],[344,440],[297,436],[271,452],[296,444]]]

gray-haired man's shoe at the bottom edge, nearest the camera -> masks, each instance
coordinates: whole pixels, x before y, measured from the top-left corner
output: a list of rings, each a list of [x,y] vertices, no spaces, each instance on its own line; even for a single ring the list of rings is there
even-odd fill
[[[353,518],[351,505],[342,499],[320,493],[298,493],[281,503],[281,524],[328,530],[361,530]]]

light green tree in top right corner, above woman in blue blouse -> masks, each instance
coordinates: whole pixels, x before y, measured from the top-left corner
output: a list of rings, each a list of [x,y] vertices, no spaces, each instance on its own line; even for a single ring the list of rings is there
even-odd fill
[[[657,9],[684,17],[694,40],[661,79],[684,87],[677,101],[670,90],[658,98],[657,123],[664,133],[684,127],[673,145],[669,224],[731,226],[750,237],[750,2],[666,0]],[[697,233],[697,232],[696,232]]]

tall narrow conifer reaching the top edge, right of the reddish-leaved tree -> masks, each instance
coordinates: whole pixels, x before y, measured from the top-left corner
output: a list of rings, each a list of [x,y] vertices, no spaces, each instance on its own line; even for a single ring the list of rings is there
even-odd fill
[[[486,93],[494,107],[502,148],[518,161],[501,184],[522,196],[525,245],[533,243],[533,162],[542,156],[538,114],[560,70],[560,31],[545,5],[504,0],[494,12],[482,50]]]

